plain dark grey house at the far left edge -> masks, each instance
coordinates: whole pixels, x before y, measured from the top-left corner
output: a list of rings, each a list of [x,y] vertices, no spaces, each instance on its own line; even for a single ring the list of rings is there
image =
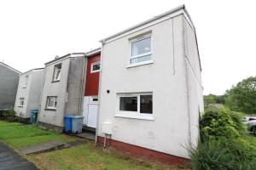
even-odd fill
[[[20,71],[0,62],[0,110],[14,109]]]

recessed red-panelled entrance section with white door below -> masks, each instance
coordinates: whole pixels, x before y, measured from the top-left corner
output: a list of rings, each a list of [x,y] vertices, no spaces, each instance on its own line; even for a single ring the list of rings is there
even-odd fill
[[[85,54],[87,65],[85,88],[84,88],[84,127],[89,130],[96,130],[97,112],[98,112],[98,91],[99,77],[101,70],[101,48],[96,48]]]

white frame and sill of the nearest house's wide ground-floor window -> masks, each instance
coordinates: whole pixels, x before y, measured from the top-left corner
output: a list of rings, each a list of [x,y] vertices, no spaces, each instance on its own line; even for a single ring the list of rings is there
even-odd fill
[[[129,93],[129,94],[117,94],[117,107],[116,107],[116,117],[125,117],[125,118],[134,118],[134,119],[143,119],[143,120],[154,120],[154,111],[152,113],[141,113],[140,112],[140,96],[141,95],[152,95],[153,93]],[[120,98],[121,97],[137,97],[137,111],[120,111]],[[153,104],[152,104],[153,105]]]

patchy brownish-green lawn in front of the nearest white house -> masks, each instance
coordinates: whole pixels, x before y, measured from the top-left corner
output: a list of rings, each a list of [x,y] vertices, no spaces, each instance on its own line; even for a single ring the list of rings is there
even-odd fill
[[[42,169],[109,169],[109,170],[147,170],[147,169],[178,169],[153,162],[133,160],[124,156],[117,156],[108,150],[95,148],[92,142],[66,150],[56,150],[49,153],[28,156]]]

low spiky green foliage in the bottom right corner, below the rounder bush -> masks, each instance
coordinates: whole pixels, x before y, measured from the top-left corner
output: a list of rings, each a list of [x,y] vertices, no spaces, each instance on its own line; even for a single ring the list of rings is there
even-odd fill
[[[256,154],[242,139],[213,139],[190,149],[191,167],[195,170],[253,170]]]

